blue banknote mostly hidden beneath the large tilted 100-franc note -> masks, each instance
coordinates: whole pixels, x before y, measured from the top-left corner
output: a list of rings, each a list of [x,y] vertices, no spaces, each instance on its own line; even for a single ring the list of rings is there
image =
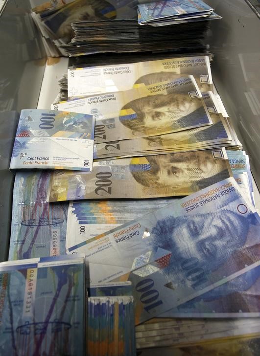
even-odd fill
[[[160,317],[260,317],[260,266]]]

